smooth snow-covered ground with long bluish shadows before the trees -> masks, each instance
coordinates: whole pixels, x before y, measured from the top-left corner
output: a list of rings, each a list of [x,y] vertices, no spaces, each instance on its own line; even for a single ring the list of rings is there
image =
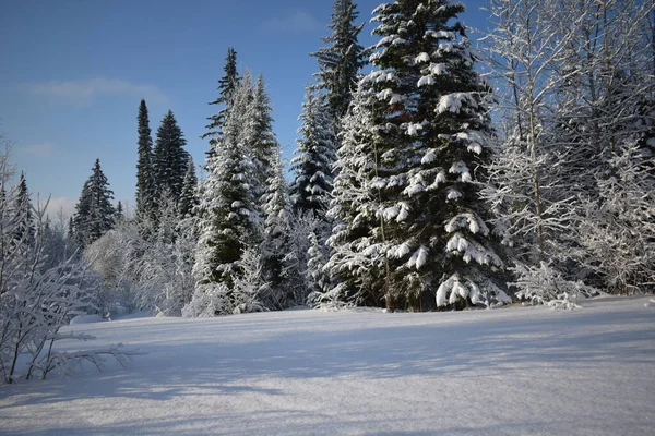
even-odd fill
[[[654,435],[647,302],[73,326],[97,336],[82,347],[124,342],[148,354],[1,386],[0,433]]]

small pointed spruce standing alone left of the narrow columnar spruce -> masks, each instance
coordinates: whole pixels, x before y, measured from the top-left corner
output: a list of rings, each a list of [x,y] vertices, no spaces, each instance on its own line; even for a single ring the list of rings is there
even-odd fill
[[[82,187],[73,216],[74,234],[81,246],[88,246],[111,229],[116,217],[111,205],[114,192],[109,189],[99,159],[96,159],[92,171]]]

